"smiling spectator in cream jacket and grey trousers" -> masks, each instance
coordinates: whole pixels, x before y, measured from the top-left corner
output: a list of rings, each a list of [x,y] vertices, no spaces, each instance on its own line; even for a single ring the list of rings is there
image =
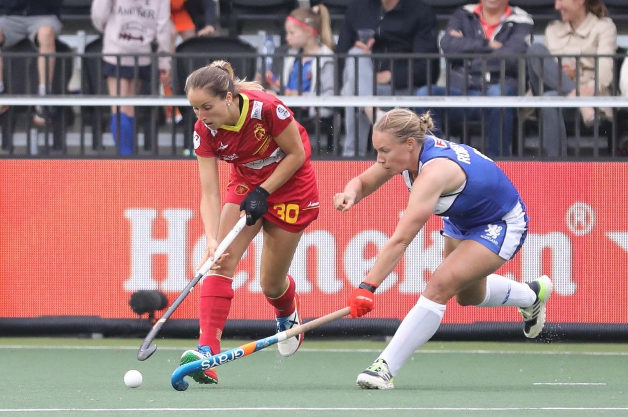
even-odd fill
[[[596,59],[592,55],[614,55],[617,50],[617,28],[608,18],[600,0],[556,0],[561,19],[545,28],[544,45],[534,44],[529,49],[528,68],[534,94],[548,96],[609,95],[613,82],[612,58]],[[538,55],[546,55],[545,58]],[[547,55],[571,55],[558,60]],[[589,55],[589,56],[580,56]],[[537,56],[535,58],[535,56]],[[576,64],[579,61],[579,65]],[[596,78],[597,60],[597,80]],[[543,65],[541,65],[543,61]],[[579,74],[576,71],[579,69]],[[579,80],[580,85],[576,85]],[[597,92],[595,83],[597,82]],[[612,117],[610,108],[602,108],[605,117]],[[566,154],[567,133],[565,119],[576,122],[573,108],[541,108],[543,145],[548,156]],[[581,108],[582,121],[591,126],[595,119],[593,108]]]

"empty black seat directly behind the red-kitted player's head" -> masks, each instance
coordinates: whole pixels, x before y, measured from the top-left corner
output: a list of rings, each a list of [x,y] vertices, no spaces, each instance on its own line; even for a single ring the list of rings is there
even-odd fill
[[[227,60],[231,63],[238,78],[254,80],[256,73],[257,50],[250,43],[229,37],[200,37],[181,42],[175,51],[173,60],[173,92],[185,95],[185,80],[197,68],[210,64],[214,60]],[[240,55],[240,56],[234,56]],[[244,54],[249,56],[242,56]],[[183,125],[193,125],[193,113],[190,107],[179,108],[183,115]],[[191,129],[183,132],[184,147],[192,144]]]

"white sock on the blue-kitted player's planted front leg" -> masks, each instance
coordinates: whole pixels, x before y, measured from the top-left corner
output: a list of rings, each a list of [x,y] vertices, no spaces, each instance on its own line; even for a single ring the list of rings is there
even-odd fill
[[[444,314],[444,304],[435,303],[423,295],[419,297],[399,325],[393,340],[379,356],[386,361],[393,376],[399,372],[406,359],[436,333]]]

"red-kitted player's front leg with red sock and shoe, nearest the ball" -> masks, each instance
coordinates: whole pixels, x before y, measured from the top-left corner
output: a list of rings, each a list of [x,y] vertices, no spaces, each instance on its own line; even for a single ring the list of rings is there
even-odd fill
[[[227,236],[227,233],[229,233],[239,218],[239,206],[233,203],[225,203],[222,213],[220,213],[219,242]],[[246,226],[225,250],[225,253],[228,253],[229,256],[220,261],[220,268],[208,272],[205,278],[203,278],[198,308],[198,322],[200,325],[198,350],[183,352],[181,364],[196,361],[202,357],[220,352],[222,331],[229,316],[231,300],[234,297],[234,290],[231,287],[232,278],[237,263],[242,258],[249,243],[259,232],[260,227],[261,222],[253,226]],[[218,377],[214,369],[207,369],[204,372],[193,374],[192,378],[201,384],[218,383]]]

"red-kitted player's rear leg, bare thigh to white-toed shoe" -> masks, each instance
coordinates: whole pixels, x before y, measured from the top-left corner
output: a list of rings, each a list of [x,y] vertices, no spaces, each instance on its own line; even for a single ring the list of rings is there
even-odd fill
[[[288,275],[301,235],[302,230],[291,232],[264,220],[260,284],[266,300],[273,306],[277,332],[301,324],[295,280]],[[302,334],[279,342],[277,345],[279,354],[282,356],[294,354],[302,342]]]

